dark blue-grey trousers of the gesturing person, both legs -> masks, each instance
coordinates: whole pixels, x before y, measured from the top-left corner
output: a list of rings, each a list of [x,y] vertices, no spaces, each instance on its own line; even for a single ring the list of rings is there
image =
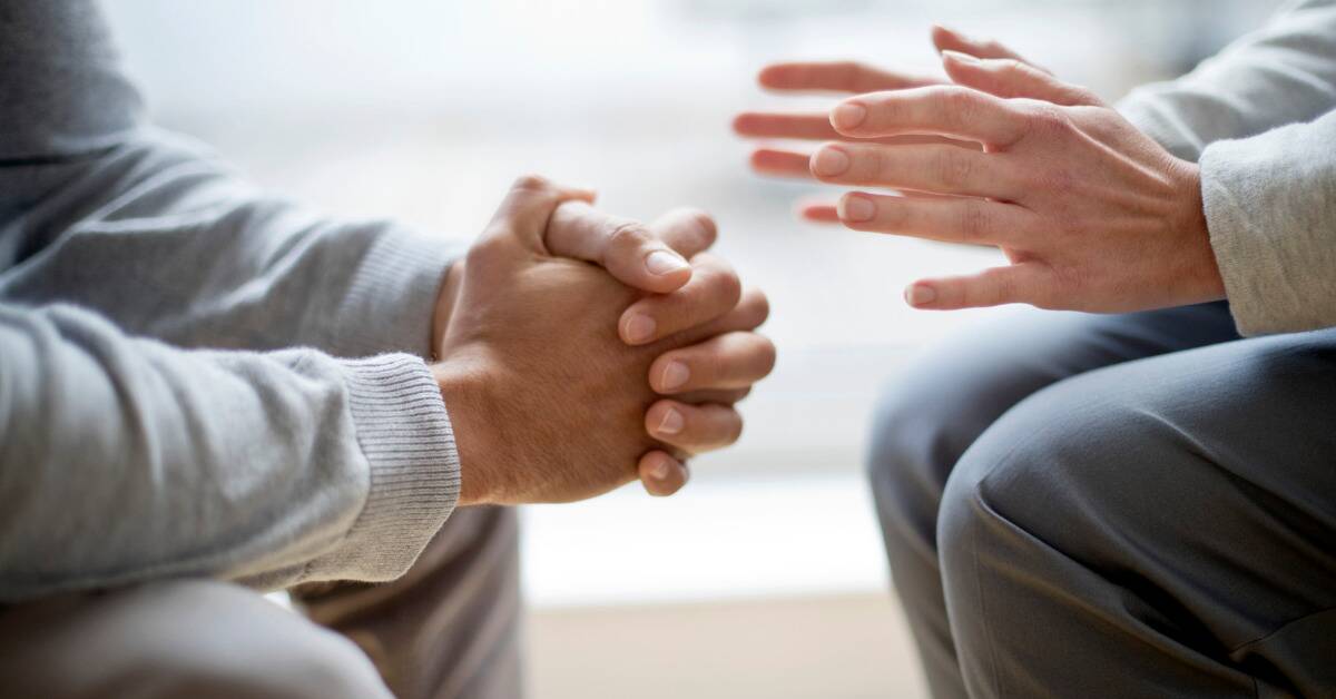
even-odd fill
[[[870,472],[938,698],[1336,696],[1336,330],[1006,319],[892,385]]]

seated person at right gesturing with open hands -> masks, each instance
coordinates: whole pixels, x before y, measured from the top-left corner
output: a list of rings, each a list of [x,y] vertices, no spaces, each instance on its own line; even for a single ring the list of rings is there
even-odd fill
[[[807,215],[991,245],[921,309],[1030,303],[907,368],[871,480],[934,696],[1336,696],[1336,3],[1117,110],[938,29],[954,84],[791,63]],[[1228,303],[1226,303],[1228,301]],[[1271,335],[1271,337],[1263,337]]]

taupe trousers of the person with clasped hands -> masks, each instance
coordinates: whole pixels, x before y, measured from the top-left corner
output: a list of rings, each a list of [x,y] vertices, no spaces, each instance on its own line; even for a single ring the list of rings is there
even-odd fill
[[[0,609],[0,696],[516,699],[514,512],[458,509],[390,584],[307,585],[307,617],[174,580]]]

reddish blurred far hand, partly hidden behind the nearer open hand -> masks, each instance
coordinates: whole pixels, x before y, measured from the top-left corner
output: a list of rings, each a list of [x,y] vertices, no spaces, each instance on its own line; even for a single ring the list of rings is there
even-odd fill
[[[958,51],[986,59],[1013,59],[1025,61],[1002,44],[967,37],[945,27],[933,28],[933,45],[941,51]],[[1033,65],[1033,64],[1031,64]],[[1041,68],[1042,69],[1042,68]],[[762,87],[778,92],[832,92],[862,94],[888,90],[912,90],[946,84],[934,75],[908,74],[864,65],[855,61],[794,61],[767,65],[758,76]],[[843,140],[886,144],[938,143],[978,150],[978,144],[927,134],[863,138],[835,131],[826,111],[814,112],[743,112],[733,119],[733,131],[759,139],[784,140]],[[751,154],[751,166],[763,175],[811,178],[811,151],[795,148],[758,147]],[[799,215],[820,223],[838,223],[839,215],[831,202],[804,203]]]

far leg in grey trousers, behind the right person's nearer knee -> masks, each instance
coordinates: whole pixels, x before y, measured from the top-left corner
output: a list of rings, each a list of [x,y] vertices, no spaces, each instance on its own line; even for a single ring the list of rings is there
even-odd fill
[[[1089,315],[1019,311],[934,347],[887,389],[868,470],[895,591],[938,696],[963,696],[947,624],[937,520],[966,449],[1014,405],[1069,377],[1237,339],[1224,303]]]

